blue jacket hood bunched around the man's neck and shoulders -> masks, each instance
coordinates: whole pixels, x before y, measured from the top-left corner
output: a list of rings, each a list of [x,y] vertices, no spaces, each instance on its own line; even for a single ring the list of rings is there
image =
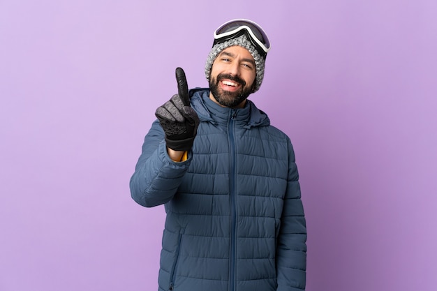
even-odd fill
[[[244,108],[221,107],[209,99],[208,88],[195,88],[189,91],[191,107],[197,112],[201,121],[208,121],[213,124],[228,122],[233,114],[238,122],[242,122],[244,128],[269,126],[270,119],[255,106],[251,100],[246,100]]]

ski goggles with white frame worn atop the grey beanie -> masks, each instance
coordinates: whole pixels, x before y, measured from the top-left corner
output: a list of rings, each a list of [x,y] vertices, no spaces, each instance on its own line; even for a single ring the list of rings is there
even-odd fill
[[[251,43],[255,45],[262,56],[266,56],[270,50],[270,42],[267,33],[255,22],[245,19],[230,20],[222,24],[214,31],[214,45],[223,43],[225,40],[235,38],[246,33]]]

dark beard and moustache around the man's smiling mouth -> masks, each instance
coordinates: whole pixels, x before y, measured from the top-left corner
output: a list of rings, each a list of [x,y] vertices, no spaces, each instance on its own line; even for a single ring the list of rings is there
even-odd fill
[[[237,82],[238,84],[241,84],[242,87],[235,92],[224,91],[218,86],[218,83],[223,79]],[[255,82],[253,82],[253,85],[255,85]],[[244,82],[244,80],[242,80],[240,77],[228,74],[218,74],[217,79],[211,78],[211,80],[209,80],[209,90],[211,90],[212,96],[216,98],[218,104],[231,108],[237,107],[244,100],[246,100],[246,98],[249,97],[249,95],[253,92],[252,87],[247,88],[246,82]]]

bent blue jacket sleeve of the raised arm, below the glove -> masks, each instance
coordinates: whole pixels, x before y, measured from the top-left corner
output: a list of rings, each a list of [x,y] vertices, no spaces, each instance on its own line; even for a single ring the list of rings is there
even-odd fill
[[[154,121],[129,184],[133,200],[145,207],[168,202],[177,192],[190,162],[191,154],[181,163],[171,160],[161,124]]]

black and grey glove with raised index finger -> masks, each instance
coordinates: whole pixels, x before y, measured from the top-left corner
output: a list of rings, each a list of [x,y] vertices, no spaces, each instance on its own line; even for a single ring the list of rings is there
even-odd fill
[[[158,107],[156,117],[165,133],[165,143],[175,151],[189,151],[199,126],[198,114],[190,106],[188,84],[182,68],[176,68],[178,94]]]

